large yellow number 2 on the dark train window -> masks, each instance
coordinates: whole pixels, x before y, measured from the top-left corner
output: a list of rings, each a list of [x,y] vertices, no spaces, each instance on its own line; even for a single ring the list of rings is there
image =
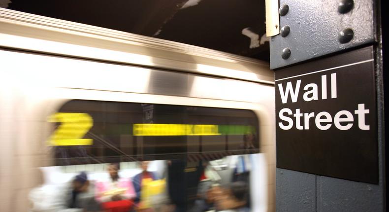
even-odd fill
[[[93,139],[83,139],[93,127],[93,118],[87,113],[56,112],[50,115],[49,122],[61,122],[50,136],[49,146],[92,145]]]

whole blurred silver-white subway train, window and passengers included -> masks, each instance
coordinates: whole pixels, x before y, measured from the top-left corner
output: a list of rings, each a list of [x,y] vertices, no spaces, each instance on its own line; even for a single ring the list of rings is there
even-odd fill
[[[275,210],[268,63],[2,8],[0,48],[1,211]]]

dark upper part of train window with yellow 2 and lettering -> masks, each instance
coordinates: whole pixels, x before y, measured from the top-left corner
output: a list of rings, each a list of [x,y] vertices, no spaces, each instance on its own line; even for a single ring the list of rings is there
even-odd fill
[[[49,117],[56,165],[219,159],[258,153],[258,118],[242,109],[73,100]]]

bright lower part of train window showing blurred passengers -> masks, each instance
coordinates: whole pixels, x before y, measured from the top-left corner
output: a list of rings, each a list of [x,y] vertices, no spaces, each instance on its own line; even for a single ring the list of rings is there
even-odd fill
[[[237,180],[235,170],[240,165],[235,159],[227,156],[210,161],[203,170],[198,166],[188,168],[190,162],[182,160],[144,161],[140,162],[141,170],[138,162],[43,167],[46,178],[50,178],[49,175],[56,178],[46,181],[39,192],[32,189],[32,211],[249,212],[250,180]],[[148,169],[149,164],[152,164],[151,169]],[[126,169],[121,170],[120,166]],[[109,177],[103,167],[107,168]],[[85,171],[71,173],[80,169],[88,170],[89,174]],[[158,172],[176,175],[168,177],[169,180],[158,179]],[[249,173],[246,171],[246,175]]]

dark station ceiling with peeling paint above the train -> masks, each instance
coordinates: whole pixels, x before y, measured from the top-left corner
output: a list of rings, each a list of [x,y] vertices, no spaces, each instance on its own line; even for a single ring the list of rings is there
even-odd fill
[[[0,0],[0,7],[269,61],[265,0]]]

